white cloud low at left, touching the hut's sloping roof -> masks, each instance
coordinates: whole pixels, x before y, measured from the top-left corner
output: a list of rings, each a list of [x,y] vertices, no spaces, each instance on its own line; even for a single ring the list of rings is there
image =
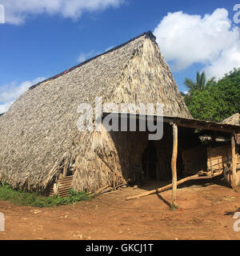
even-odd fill
[[[25,81],[21,84],[10,82],[4,86],[0,86],[0,113],[6,112],[16,98],[22,95],[26,90],[38,82],[42,82],[46,78],[36,78],[33,81]]]

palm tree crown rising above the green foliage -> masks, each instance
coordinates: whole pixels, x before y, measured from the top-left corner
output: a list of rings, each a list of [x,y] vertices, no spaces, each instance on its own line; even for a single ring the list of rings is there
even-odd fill
[[[189,89],[189,91],[194,90],[203,90],[206,86],[212,86],[215,82],[215,78],[210,78],[206,81],[206,75],[204,71],[202,74],[199,72],[197,73],[197,80],[193,82],[190,78],[185,78],[184,85]]]

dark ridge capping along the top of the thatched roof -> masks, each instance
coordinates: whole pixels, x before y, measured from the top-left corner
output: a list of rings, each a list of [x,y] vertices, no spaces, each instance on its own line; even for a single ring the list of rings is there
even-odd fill
[[[119,48],[122,48],[123,46],[126,46],[126,45],[129,44],[130,42],[133,42],[134,40],[136,40],[136,39],[138,39],[138,38],[141,38],[141,37],[144,36],[144,35],[145,35],[146,38],[150,38],[152,41],[156,42],[156,37],[154,36],[154,34],[152,33],[152,31],[149,30],[149,31],[147,31],[147,32],[144,32],[144,33],[142,33],[142,34],[139,34],[137,37],[132,38],[132,39],[130,39],[130,40],[127,41],[127,42],[122,43],[122,44],[119,45],[119,46],[116,46],[116,47],[114,47],[114,48],[112,48],[112,49],[110,49],[110,50],[105,51],[105,52],[102,53],[102,54],[95,55],[94,57],[89,58],[89,59],[87,59],[86,61],[79,63],[78,65],[72,66],[72,67],[70,67],[70,69],[65,70],[65,71],[63,71],[63,72],[61,72],[61,73],[59,73],[59,74],[56,74],[56,75],[54,75],[53,77],[46,78],[46,79],[43,80],[42,82],[48,82],[48,81],[50,81],[50,80],[54,80],[55,78],[61,77],[63,74],[69,73],[70,71],[75,70],[76,68],[85,65],[86,63],[91,62],[91,61],[94,60],[95,58],[101,57],[102,55],[105,55],[105,54],[109,54],[110,52],[112,52],[112,51],[114,51],[114,50],[118,50]],[[34,86],[30,86],[29,90],[33,90],[35,87],[39,86],[42,82],[38,82],[38,83],[35,84]]]

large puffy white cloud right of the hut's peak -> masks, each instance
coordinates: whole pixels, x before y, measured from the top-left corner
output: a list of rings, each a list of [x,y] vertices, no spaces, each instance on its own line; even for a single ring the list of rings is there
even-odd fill
[[[202,63],[208,77],[221,78],[240,66],[240,29],[234,26],[226,9],[213,14],[169,13],[154,30],[167,62],[174,70]],[[223,65],[224,64],[224,65]]]

